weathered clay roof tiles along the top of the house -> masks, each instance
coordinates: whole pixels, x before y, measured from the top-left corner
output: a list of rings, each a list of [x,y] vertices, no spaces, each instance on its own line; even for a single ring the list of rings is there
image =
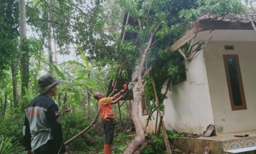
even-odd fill
[[[249,14],[254,23],[256,23],[256,14]],[[201,14],[198,17],[198,21],[224,21],[224,22],[242,22],[249,23],[247,16],[245,14],[223,14],[221,16],[217,16],[213,13],[205,13]]]

